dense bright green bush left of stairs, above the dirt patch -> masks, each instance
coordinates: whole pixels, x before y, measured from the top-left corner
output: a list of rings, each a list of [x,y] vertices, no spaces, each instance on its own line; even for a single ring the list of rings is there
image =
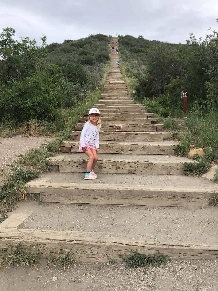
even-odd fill
[[[9,117],[17,121],[42,120],[57,114],[63,104],[62,75],[37,70],[23,81],[0,84],[0,120]]]

